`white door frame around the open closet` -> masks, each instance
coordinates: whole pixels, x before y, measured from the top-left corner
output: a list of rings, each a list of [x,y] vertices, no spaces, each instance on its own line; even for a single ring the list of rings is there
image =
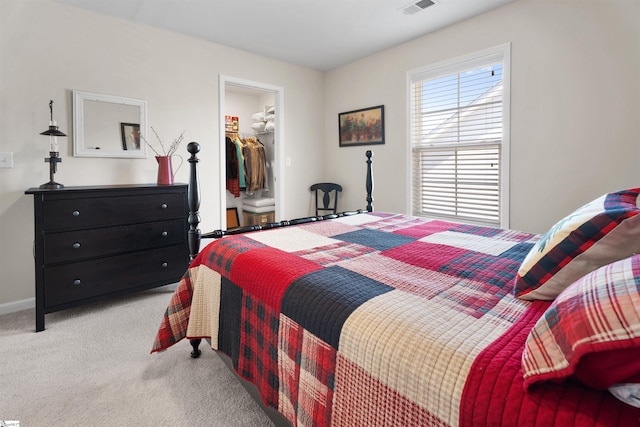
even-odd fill
[[[220,74],[218,88],[218,129],[220,130],[220,226],[223,230],[227,228],[227,174],[225,161],[225,101],[228,86],[237,86],[262,92],[272,92],[274,99],[275,130],[273,133],[274,142],[274,170],[273,180],[276,186],[275,199],[276,211],[275,220],[281,221],[286,218],[284,212],[284,88],[268,83],[256,82],[232,76]]]

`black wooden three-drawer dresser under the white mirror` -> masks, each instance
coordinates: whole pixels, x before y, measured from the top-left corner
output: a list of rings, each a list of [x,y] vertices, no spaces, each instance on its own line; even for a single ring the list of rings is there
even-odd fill
[[[180,280],[187,185],[30,188],[36,331],[44,315]]]

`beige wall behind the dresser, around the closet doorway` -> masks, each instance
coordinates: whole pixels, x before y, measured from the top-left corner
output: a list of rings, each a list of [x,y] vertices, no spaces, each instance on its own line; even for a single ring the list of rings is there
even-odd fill
[[[66,186],[148,183],[156,162],[72,156],[74,89],[146,99],[148,124],[165,141],[185,130],[201,146],[202,230],[219,227],[218,77],[284,88],[284,215],[305,216],[308,187],[320,179],[324,75],[320,72],[100,16],[49,0],[0,0],[0,151],[14,168],[0,169],[0,312],[33,304],[33,200],[24,191],[48,181],[48,139],[54,118],[69,135],[56,180]],[[310,102],[311,100],[311,102]],[[183,167],[176,178],[188,179]],[[295,178],[290,178],[295,177]],[[287,184],[289,183],[289,184]],[[302,184],[302,185],[301,185]],[[206,191],[205,191],[206,190]]]

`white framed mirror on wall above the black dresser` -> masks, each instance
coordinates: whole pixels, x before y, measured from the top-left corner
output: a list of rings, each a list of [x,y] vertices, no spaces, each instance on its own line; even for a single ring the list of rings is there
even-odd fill
[[[73,91],[73,155],[146,158],[147,101]]]

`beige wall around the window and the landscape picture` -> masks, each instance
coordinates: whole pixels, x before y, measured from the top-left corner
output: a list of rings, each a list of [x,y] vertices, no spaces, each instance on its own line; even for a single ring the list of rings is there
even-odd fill
[[[640,2],[520,0],[326,75],[325,174],[364,205],[407,209],[408,70],[511,43],[510,228],[544,232],[593,198],[640,186]],[[385,105],[386,144],[338,147],[337,115]]]

